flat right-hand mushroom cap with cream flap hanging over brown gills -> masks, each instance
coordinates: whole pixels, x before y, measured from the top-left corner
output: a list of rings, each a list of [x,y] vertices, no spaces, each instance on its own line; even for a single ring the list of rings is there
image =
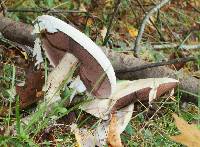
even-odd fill
[[[166,92],[176,88],[179,81],[172,78],[148,78],[135,81],[121,81],[117,83],[111,99],[116,99],[112,111],[119,110],[137,101],[149,100],[160,97]],[[118,92],[121,89],[121,92]]]

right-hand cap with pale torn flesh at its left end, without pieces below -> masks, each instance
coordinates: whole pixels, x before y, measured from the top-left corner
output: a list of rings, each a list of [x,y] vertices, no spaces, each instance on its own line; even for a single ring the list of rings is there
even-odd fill
[[[135,81],[119,81],[113,94],[107,99],[94,99],[84,104],[82,109],[103,120],[107,120],[110,114],[124,108],[136,101],[149,100],[172,91],[178,81],[171,78],[149,78]]]

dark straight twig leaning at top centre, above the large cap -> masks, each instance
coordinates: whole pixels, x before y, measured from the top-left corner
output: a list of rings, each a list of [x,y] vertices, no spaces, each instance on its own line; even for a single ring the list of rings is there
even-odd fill
[[[111,19],[109,21],[109,24],[108,24],[108,29],[107,29],[106,36],[105,36],[104,41],[103,41],[103,46],[106,45],[106,43],[108,42],[108,39],[109,39],[109,36],[110,36],[110,30],[111,30],[111,27],[112,27],[112,23],[113,23],[113,20],[115,18],[115,15],[117,14],[117,11],[119,9],[120,3],[121,3],[121,0],[117,0],[117,2],[115,3],[114,12],[113,12],[113,14],[111,16]]]

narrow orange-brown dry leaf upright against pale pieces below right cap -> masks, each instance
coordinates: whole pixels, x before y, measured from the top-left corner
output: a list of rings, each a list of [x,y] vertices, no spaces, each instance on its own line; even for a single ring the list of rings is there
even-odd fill
[[[111,116],[107,143],[109,147],[123,147],[121,138],[120,138],[120,132],[118,131],[118,127],[117,127],[116,114],[112,114]]]

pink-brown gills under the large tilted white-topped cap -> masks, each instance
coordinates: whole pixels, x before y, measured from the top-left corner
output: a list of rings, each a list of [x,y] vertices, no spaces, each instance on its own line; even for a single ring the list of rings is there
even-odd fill
[[[103,68],[86,49],[62,32],[43,33],[42,45],[55,66],[66,52],[79,59],[79,76],[87,90],[100,98],[109,97],[111,84]]]

